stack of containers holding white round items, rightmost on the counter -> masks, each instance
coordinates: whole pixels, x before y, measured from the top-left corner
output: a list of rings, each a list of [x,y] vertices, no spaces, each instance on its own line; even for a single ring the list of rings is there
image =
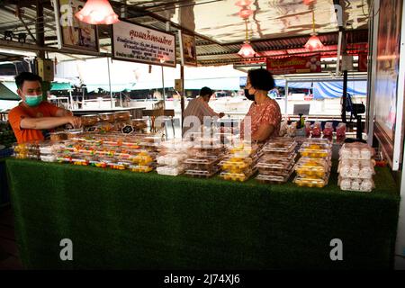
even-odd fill
[[[374,189],[374,148],[365,143],[346,143],[339,151],[338,185],[347,191]]]

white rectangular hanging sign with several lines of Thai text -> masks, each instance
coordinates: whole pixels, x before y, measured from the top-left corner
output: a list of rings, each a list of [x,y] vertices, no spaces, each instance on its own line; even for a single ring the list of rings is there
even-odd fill
[[[139,24],[112,25],[112,58],[175,67],[175,35]]]

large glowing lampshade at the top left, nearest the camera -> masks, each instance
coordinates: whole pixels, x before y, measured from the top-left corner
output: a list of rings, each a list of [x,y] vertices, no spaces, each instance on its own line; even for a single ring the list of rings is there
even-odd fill
[[[113,24],[118,23],[118,15],[112,10],[107,0],[88,0],[85,7],[75,14],[81,22],[88,24]]]

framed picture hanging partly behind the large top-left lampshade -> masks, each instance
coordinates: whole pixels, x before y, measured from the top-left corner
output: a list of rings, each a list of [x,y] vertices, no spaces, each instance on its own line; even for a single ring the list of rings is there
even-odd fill
[[[75,16],[84,6],[80,0],[53,0],[59,49],[99,51],[97,27]]]

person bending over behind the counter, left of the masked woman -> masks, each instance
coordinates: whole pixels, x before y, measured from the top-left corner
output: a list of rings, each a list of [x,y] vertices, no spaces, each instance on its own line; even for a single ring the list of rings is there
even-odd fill
[[[219,117],[222,118],[225,114],[223,112],[217,113],[212,110],[208,102],[210,101],[211,95],[213,94],[211,88],[202,87],[200,90],[200,95],[193,100],[191,100],[187,108],[185,108],[183,117],[184,119],[187,116],[195,116],[200,120],[200,123],[203,124],[203,118],[206,116],[209,117]],[[190,130],[192,127],[183,126],[183,136],[187,130]]]

